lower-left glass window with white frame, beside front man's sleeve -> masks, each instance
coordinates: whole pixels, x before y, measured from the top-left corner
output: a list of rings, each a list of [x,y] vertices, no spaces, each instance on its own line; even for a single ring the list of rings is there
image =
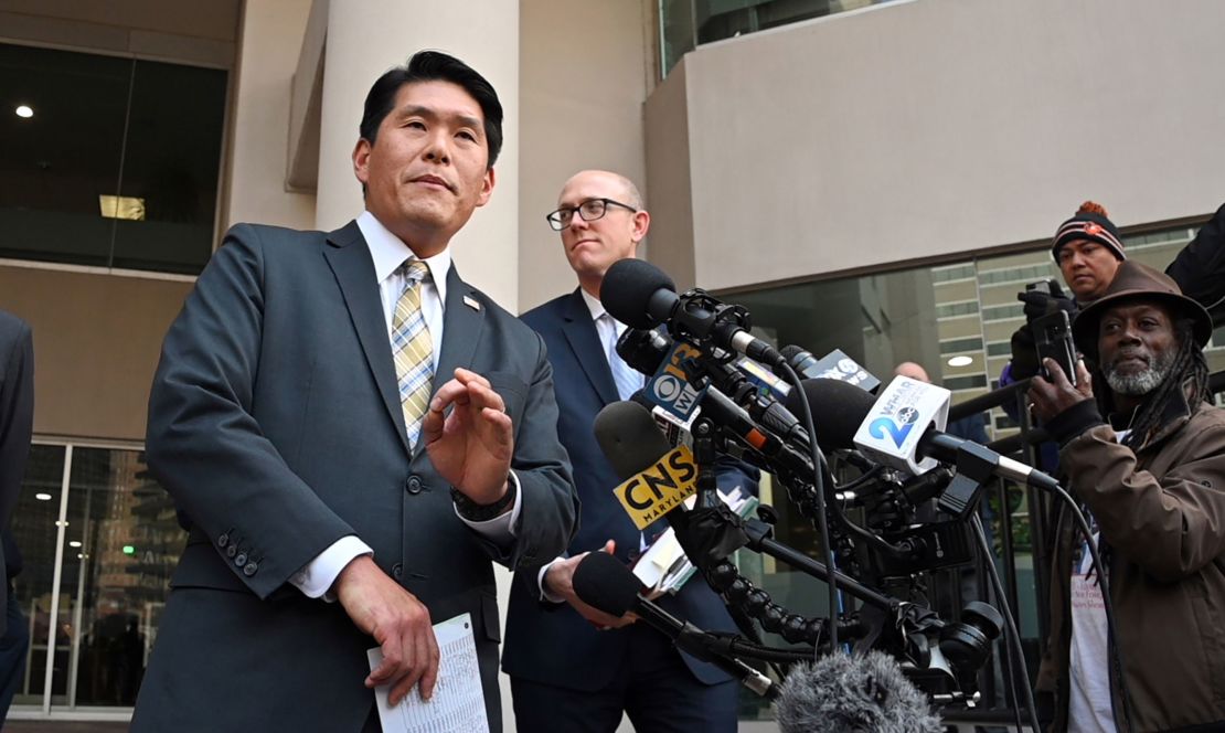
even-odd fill
[[[132,706],[186,542],[143,454],[34,445],[13,534],[32,639],[15,704],[43,705],[50,659],[53,711]]]

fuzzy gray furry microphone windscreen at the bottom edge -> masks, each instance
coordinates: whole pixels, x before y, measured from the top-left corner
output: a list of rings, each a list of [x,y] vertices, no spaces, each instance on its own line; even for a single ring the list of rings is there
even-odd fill
[[[577,572],[576,572],[577,579]],[[774,704],[782,733],[941,733],[927,699],[888,655],[828,655],[794,667]]]

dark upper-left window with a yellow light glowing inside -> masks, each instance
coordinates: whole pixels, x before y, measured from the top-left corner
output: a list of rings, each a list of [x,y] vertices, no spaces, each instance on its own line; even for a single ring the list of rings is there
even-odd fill
[[[198,273],[227,83],[222,70],[0,44],[13,104],[0,110],[0,257]]]

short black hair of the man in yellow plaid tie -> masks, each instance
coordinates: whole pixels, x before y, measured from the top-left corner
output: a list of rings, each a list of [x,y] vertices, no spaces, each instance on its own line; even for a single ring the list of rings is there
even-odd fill
[[[448,81],[463,87],[480,105],[485,118],[485,141],[489,142],[489,168],[502,152],[502,103],[497,92],[484,76],[459,59],[442,51],[417,51],[404,66],[396,66],[380,76],[366,94],[365,110],[361,113],[361,125],[358,127],[361,137],[375,143],[379,125],[396,105],[396,94],[404,85],[421,81]]]

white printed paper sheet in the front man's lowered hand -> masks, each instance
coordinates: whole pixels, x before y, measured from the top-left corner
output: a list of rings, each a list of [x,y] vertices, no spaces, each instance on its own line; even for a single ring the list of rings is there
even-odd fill
[[[434,697],[429,702],[421,700],[414,686],[392,707],[387,704],[391,685],[375,688],[383,733],[489,733],[472,617],[466,613],[435,624],[434,635],[441,657]],[[368,650],[366,657],[374,669],[382,662],[382,651],[379,647]]]

